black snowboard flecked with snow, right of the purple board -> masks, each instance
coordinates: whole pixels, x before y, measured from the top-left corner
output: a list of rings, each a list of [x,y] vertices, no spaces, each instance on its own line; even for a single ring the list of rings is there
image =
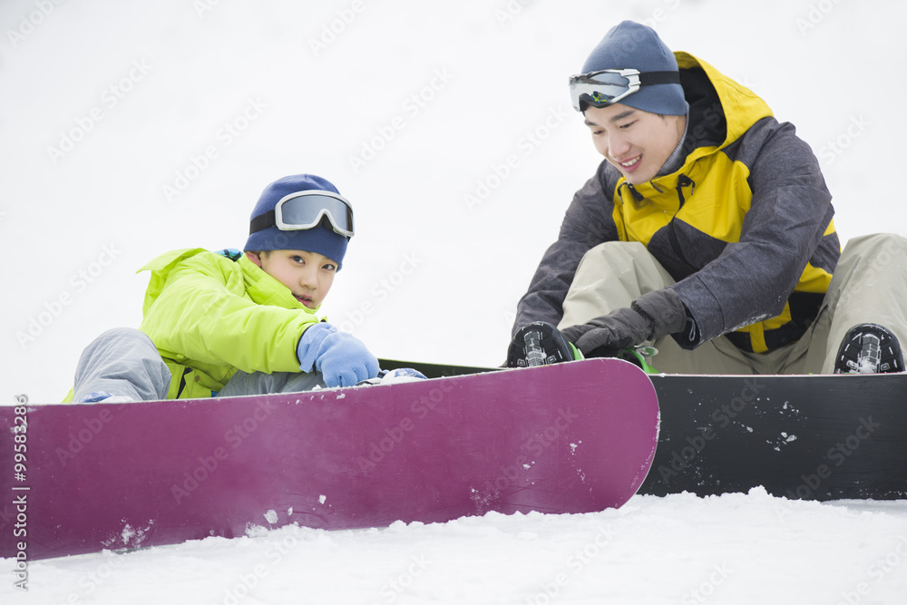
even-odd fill
[[[650,377],[661,432],[640,493],[907,497],[907,374]]]

